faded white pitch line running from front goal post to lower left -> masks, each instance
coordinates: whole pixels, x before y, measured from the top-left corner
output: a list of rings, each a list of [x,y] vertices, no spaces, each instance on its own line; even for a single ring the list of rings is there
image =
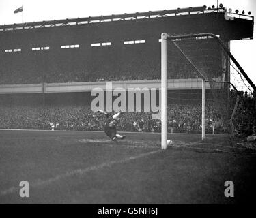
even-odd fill
[[[74,175],[83,176],[83,175],[87,174],[87,172],[91,172],[91,171],[94,171],[94,170],[100,170],[100,169],[106,168],[106,167],[111,167],[111,166],[113,166],[117,163],[126,163],[128,161],[131,161],[131,160],[134,160],[134,159],[139,159],[139,158],[145,157],[147,155],[153,155],[153,154],[159,153],[161,151],[162,150],[150,151],[150,152],[147,152],[147,153],[142,153],[140,155],[128,157],[126,159],[121,159],[119,161],[109,161],[109,162],[106,162],[106,163],[102,163],[98,166],[89,166],[88,168],[84,168],[84,169],[72,170],[72,171],[66,172],[64,174],[59,174],[55,177],[48,178],[46,180],[35,181],[34,183],[31,183],[31,185],[29,185],[29,187],[38,187],[38,186],[42,186],[42,185],[49,185],[49,184],[51,184],[53,182],[56,182],[56,181],[59,181],[63,178],[68,178],[68,177],[74,176]],[[6,196],[8,194],[14,193],[14,192],[19,191],[19,190],[20,190],[20,187],[10,187],[9,189],[5,189],[3,191],[0,191],[0,196]]]

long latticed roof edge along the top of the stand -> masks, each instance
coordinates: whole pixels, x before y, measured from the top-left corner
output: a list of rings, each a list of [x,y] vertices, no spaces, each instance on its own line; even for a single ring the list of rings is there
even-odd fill
[[[225,7],[210,9],[206,6],[201,7],[186,7],[177,8],[175,10],[160,10],[154,12],[136,12],[131,14],[112,14],[108,16],[89,16],[87,18],[72,18],[72,19],[62,19],[62,20],[48,20],[39,22],[25,22],[12,25],[0,25],[0,31],[14,31],[18,29],[33,29],[42,27],[59,27],[67,25],[81,25],[87,23],[95,22],[110,22],[110,21],[121,21],[121,20],[137,20],[143,18],[162,18],[166,16],[181,16],[189,14],[202,14],[202,13],[214,13],[214,12],[226,12]],[[153,17],[152,17],[153,16]],[[241,16],[246,16],[246,18],[253,19],[253,16],[247,16],[241,14]],[[241,18],[241,17],[240,17]]]

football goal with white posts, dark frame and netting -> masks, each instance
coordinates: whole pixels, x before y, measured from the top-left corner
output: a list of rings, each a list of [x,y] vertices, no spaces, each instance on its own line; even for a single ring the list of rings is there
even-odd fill
[[[255,133],[255,85],[228,43],[211,33],[162,33],[161,46],[162,149],[167,132],[198,133],[202,140]]]

